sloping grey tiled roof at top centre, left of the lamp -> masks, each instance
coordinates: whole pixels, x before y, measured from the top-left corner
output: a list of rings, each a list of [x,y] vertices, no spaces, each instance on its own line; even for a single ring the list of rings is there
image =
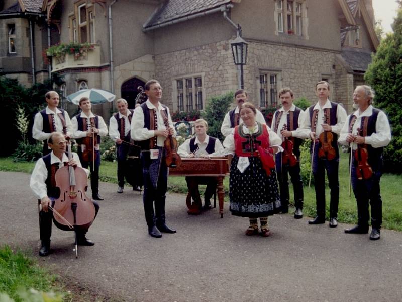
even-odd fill
[[[231,0],[167,0],[144,24],[144,29],[228,4]],[[239,1],[236,1],[239,2]]]

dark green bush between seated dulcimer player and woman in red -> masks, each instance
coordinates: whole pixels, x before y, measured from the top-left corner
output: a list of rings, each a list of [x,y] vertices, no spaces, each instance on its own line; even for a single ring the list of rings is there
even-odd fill
[[[208,105],[206,106],[202,117],[208,123],[208,135],[212,137],[218,138],[220,141],[223,141],[225,137],[223,137],[221,133],[221,125],[225,114],[229,110],[230,104],[234,100],[234,93],[228,92],[225,95],[212,97]]]

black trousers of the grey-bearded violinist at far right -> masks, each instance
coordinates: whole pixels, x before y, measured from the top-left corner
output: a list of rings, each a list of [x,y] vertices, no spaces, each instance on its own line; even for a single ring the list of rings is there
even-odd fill
[[[380,195],[380,180],[382,173],[373,171],[373,176],[369,179],[359,180],[356,177],[356,160],[352,164],[352,188],[357,202],[357,224],[368,225],[370,218],[369,204],[371,206],[371,226],[376,229],[381,228],[382,223],[382,199]]]

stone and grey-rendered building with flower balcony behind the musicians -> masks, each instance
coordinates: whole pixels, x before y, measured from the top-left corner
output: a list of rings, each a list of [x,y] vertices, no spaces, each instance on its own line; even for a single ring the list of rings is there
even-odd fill
[[[42,13],[52,45],[94,45],[78,59],[52,57],[65,95],[103,88],[133,107],[137,87],[156,78],[174,112],[237,89],[238,24],[248,43],[244,86],[260,108],[275,106],[285,86],[314,102],[315,83],[327,80],[331,99],[350,111],[378,46],[371,0],[44,0]],[[107,116],[112,105],[96,110]]]

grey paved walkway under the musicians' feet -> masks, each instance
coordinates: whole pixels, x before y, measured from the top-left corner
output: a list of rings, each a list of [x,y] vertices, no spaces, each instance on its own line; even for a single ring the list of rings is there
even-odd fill
[[[0,243],[32,251],[39,263],[120,301],[400,301],[402,233],[382,230],[347,235],[282,214],[269,218],[273,235],[247,237],[246,218],[225,204],[199,216],[186,213],[185,198],[168,194],[167,222],[177,234],[151,238],[142,195],[100,185],[105,197],[88,232],[94,247],[75,259],[73,236],[53,226],[54,252],[38,256],[36,199],[29,175],[0,172]],[[90,195],[89,195],[90,196]]]

